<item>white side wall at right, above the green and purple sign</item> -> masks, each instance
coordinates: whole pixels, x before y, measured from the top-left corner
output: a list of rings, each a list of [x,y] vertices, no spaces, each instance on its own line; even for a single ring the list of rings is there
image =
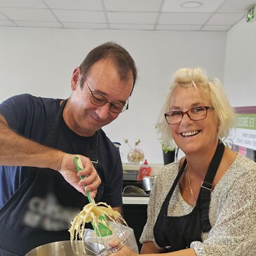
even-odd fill
[[[224,90],[233,107],[256,105],[256,22],[242,19],[227,33]]]

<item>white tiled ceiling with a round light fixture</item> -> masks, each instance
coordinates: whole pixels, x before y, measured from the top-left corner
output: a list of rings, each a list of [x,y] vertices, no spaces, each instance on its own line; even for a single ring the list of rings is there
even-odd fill
[[[200,5],[184,8],[181,5]],[[0,0],[0,27],[227,31],[256,0]]]

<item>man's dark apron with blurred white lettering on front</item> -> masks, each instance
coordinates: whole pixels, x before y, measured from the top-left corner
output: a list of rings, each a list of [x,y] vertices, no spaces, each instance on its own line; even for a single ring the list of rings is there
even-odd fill
[[[48,133],[46,145],[55,147],[60,134],[63,102]],[[90,160],[97,166],[97,132]],[[25,255],[29,250],[54,241],[67,241],[70,221],[88,203],[62,175],[49,168],[29,168],[25,182],[0,210],[0,255]],[[97,198],[95,198],[97,201]]]

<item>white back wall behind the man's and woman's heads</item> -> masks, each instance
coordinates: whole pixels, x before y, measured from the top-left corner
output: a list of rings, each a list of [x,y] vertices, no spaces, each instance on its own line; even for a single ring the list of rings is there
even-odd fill
[[[149,32],[85,29],[0,27],[0,102],[11,95],[68,97],[73,68],[89,50],[104,43],[121,43],[139,71],[129,110],[104,130],[121,142],[123,161],[128,145],[140,138],[149,163],[162,163],[154,128],[173,72],[180,67],[203,67],[209,76],[224,79],[224,32]]]

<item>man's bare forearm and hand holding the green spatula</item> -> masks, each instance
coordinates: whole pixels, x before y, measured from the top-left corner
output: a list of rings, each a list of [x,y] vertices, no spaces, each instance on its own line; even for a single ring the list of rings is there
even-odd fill
[[[77,173],[74,156],[18,135],[8,127],[6,119],[0,114],[0,165],[58,170],[65,180],[78,191],[85,194],[84,185],[94,197],[101,183],[100,177],[90,159],[85,156],[81,156],[84,169]],[[86,179],[80,180],[81,175],[86,176]]]

